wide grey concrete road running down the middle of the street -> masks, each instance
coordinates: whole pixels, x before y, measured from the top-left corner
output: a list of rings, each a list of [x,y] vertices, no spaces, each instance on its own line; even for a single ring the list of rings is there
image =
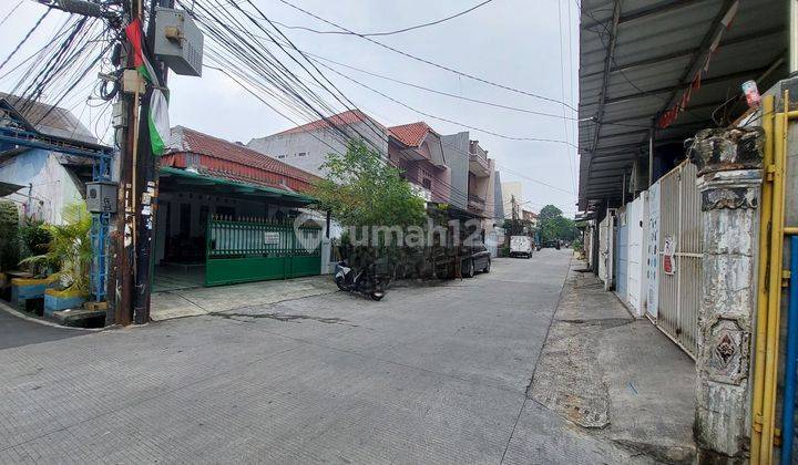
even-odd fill
[[[570,257],[0,350],[0,463],[628,463],[526,397]]]

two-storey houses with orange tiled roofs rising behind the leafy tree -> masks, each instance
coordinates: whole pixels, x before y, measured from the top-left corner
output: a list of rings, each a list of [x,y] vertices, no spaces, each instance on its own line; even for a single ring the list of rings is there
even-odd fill
[[[349,111],[247,144],[260,154],[324,176],[328,153],[344,153],[347,137],[362,138],[383,154],[430,204],[446,204],[450,216],[479,218],[491,230],[504,217],[495,164],[469,132],[441,135],[424,122],[386,127],[360,111]]]

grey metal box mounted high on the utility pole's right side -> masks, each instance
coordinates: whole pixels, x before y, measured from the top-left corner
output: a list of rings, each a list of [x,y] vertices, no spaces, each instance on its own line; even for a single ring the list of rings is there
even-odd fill
[[[155,9],[155,55],[175,73],[202,75],[203,40],[186,11]]]

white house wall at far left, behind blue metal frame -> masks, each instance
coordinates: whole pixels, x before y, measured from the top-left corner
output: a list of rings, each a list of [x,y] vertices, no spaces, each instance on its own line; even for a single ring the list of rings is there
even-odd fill
[[[84,199],[82,186],[61,165],[55,154],[41,148],[0,162],[0,182],[25,186],[4,198],[21,208],[29,205],[29,216],[51,224],[61,224],[61,214],[66,205]]]

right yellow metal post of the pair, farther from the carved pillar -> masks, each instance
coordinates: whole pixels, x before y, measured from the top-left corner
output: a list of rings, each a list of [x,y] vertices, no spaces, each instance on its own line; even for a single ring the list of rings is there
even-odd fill
[[[787,126],[789,92],[784,92],[784,112],[775,117],[773,173],[773,211],[768,266],[768,311],[765,354],[765,390],[763,396],[763,434],[759,463],[773,463],[774,430],[776,427],[776,384],[778,370],[779,312],[781,306],[781,264],[784,254],[785,166],[787,164]]]

